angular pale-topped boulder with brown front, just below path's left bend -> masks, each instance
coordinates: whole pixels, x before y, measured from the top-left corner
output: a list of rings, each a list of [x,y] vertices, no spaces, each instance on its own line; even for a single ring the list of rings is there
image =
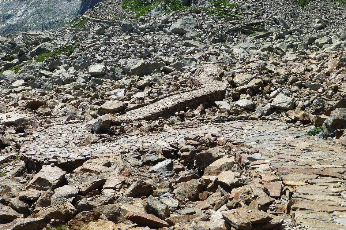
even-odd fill
[[[28,188],[37,190],[56,189],[64,179],[66,172],[54,165],[45,165],[29,182]]]

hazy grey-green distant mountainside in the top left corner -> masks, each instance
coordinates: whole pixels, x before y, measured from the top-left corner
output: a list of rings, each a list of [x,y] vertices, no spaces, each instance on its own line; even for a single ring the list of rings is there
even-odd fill
[[[100,1],[11,1],[0,2],[1,35],[64,26]]]

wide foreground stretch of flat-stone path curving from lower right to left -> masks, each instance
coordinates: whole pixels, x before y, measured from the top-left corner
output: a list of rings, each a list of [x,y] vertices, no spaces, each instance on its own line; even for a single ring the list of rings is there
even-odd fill
[[[247,151],[239,157],[253,177],[250,185],[255,195],[263,193],[263,182],[279,181],[284,186],[283,194],[291,199],[288,204],[276,204],[275,208],[291,214],[297,224],[306,228],[340,229],[338,223],[345,221],[345,149],[331,140],[307,136],[302,127],[278,121],[177,127],[161,133],[122,135],[108,143],[85,147],[73,144],[87,133],[83,124],[56,124],[43,132],[35,131],[36,139],[25,142],[21,153],[26,162],[43,164],[46,160],[61,166],[89,159],[88,162],[97,165],[105,160],[119,161],[124,154],[142,148],[185,143],[185,135],[209,132],[230,138],[233,144],[247,146],[241,148]],[[146,175],[154,176],[147,172]]]

